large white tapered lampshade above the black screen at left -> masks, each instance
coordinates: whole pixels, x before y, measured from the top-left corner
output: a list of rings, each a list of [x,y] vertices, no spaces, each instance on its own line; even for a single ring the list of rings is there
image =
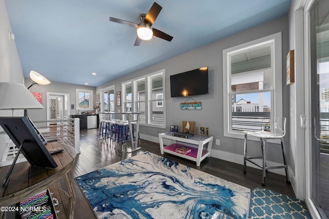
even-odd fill
[[[44,108],[24,84],[0,82],[0,109]]]

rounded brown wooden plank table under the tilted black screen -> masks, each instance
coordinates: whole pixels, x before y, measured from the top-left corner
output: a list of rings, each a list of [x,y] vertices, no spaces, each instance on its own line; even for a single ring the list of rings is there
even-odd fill
[[[73,218],[76,196],[68,172],[74,165],[75,149],[64,143],[47,143],[46,148],[48,150],[52,148],[64,149],[64,151],[52,155],[58,167],[56,169],[47,169],[30,166],[27,161],[16,163],[7,188],[0,186],[0,206],[15,205],[64,178],[71,204],[69,218]],[[9,168],[10,166],[0,167],[0,182],[4,181]],[[3,218],[4,213],[0,212],[0,218]]]

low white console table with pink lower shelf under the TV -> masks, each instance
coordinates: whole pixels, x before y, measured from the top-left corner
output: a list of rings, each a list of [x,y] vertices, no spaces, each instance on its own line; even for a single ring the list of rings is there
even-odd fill
[[[174,140],[174,143],[163,147],[164,138]],[[168,154],[173,154],[182,158],[196,161],[196,166],[199,167],[202,160],[206,157],[210,157],[213,138],[213,136],[207,135],[194,135],[190,138],[181,138],[172,136],[172,132],[161,133],[159,134],[160,151],[161,154],[166,152]],[[177,143],[177,141],[182,142],[182,144]],[[189,143],[189,145],[184,145],[184,142]],[[207,150],[204,150],[204,145],[206,143],[208,143],[208,147]],[[192,151],[186,155],[180,154],[176,152],[176,148],[179,147],[189,147]]]

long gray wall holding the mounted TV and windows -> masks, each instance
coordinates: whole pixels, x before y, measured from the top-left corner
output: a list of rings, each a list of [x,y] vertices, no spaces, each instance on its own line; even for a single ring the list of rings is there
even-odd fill
[[[199,47],[184,54],[180,54],[177,57],[133,72],[130,75],[123,76],[114,81],[108,82],[102,86],[97,87],[96,93],[100,93],[99,90],[101,88],[110,85],[115,85],[116,92],[120,91],[122,81],[131,80],[139,76],[147,75],[160,69],[166,69],[165,86],[167,127],[166,129],[157,129],[154,127],[142,126],[140,127],[140,133],[157,137],[158,133],[169,131],[170,125],[178,125],[181,130],[181,121],[196,121],[197,127],[209,127],[210,135],[214,136],[214,139],[221,140],[221,145],[215,145],[215,142],[213,143],[213,149],[242,155],[243,140],[224,137],[223,134],[223,50],[277,32],[282,32],[282,63],[285,63],[285,54],[289,51],[287,15],[279,17],[278,19],[264,23],[257,27],[253,27],[240,33],[231,35],[223,40],[216,41],[203,47]],[[202,102],[202,110],[181,111],[180,103],[186,101],[188,98],[170,97],[170,76],[202,66],[209,66],[209,94],[193,96],[193,99]],[[285,64],[282,65],[282,74],[282,93],[286,94],[288,88],[285,85]],[[283,116],[289,118],[289,96],[283,95],[282,99],[284,107]],[[289,121],[287,121],[287,126],[289,126]],[[285,140],[286,144],[289,145],[288,136],[286,136]],[[257,149],[259,149],[259,142],[253,142],[253,144],[254,147],[257,147]],[[280,155],[279,149],[273,149],[273,151],[271,147],[269,147],[269,149],[269,153]],[[272,159],[272,161],[275,162],[281,162],[282,155],[279,155],[274,157],[271,156],[269,157],[269,159]],[[241,160],[241,162],[242,161],[243,160]]]

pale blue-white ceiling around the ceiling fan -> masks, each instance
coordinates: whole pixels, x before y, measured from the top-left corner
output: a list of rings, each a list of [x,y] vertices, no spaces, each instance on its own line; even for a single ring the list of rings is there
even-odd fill
[[[134,46],[148,0],[5,0],[24,76],[38,71],[52,82],[99,86],[288,13],[291,0],[158,0],[153,37]],[[97,75],[92,75],[96,72]]]

